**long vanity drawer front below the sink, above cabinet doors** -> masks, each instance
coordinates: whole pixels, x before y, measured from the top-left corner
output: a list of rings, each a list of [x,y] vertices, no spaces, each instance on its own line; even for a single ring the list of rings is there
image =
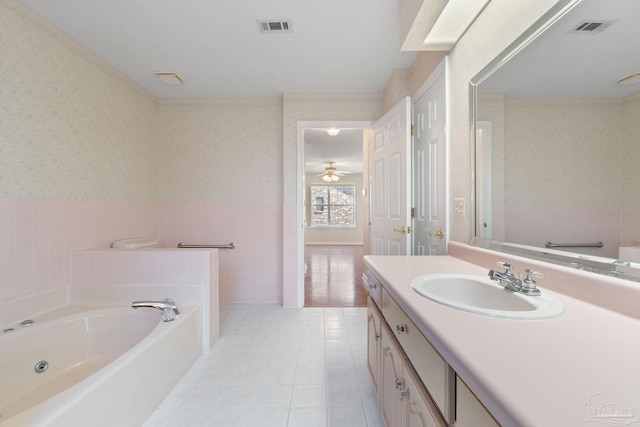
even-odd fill
[[[382,315],[411,364],[420,373],[420,379],[438,409],[447,421],[452,421],[453,410],[448,403],[452,402],[453,387],[449,387],[448,384],[453,382],[453,377],[449,365],[384,289],[382,290]],[[451,393],[450,397],[447,398],[449,393]]]

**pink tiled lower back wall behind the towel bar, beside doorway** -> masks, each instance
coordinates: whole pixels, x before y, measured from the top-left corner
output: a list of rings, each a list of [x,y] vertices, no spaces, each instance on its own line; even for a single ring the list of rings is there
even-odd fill
[[[227,244],[220,249],[221,303],[282,304],[281,205],[167,205],[159,208],[162,247]]]

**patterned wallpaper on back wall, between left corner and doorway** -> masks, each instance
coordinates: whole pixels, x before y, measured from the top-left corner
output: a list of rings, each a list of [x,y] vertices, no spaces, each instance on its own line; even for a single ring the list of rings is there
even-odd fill
[[[161,101],[159,201],[282,203],[282,101]]]

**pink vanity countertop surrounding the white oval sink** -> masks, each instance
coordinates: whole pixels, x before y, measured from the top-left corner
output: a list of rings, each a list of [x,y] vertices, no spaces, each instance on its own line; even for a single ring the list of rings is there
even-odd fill
[[[468,313],[419,296],[411,281],[486,276],[484,267],[448,255],[366,256],[365,263],[504,427],[607,425],[613,418],[592,418],[605,405],[618,412],[615,421],[640,425],[639,320],[544,286],[563,302],[560,317]]]

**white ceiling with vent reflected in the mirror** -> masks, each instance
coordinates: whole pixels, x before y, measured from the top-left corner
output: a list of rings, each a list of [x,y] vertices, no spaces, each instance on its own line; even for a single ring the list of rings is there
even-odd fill
[[[619,85],[640,72],[640,0],[583,0],[480,85],[506,98],[606,98],[640,90]],[[583,21],[610,21],[575,33]]]

